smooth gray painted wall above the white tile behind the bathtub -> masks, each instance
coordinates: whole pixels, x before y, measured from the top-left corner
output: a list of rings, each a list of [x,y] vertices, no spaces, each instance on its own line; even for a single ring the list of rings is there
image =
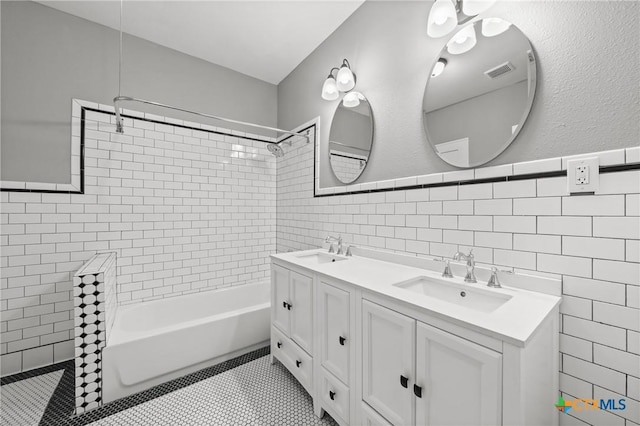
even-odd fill
[[[71,99],[111,104],[118,32],[38,3],[2,1],[1,8],[1,178],[70,183]],[[276,124],[275,85],[139,38],[124,38],[122,75],[124,95]]]

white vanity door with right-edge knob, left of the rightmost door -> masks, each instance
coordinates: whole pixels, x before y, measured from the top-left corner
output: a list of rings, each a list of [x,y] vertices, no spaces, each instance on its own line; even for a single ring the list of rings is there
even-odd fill
[[[415,424],[416,322],[366,300],[362,316],[362,397],[392,424]]]

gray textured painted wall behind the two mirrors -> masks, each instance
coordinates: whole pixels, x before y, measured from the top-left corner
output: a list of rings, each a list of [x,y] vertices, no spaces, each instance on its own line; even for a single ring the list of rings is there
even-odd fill
[[[452,170],[422,127],[430,65],[446,43],[427,36],[431,2],[365,2],[278,86],[278,124],[321,117],[326,144],[338,101],[320,97],[329,69],[348,58],[371,102],[375,141],[360,182]],[[515,24],[538,59],[533,109],[515,142],[490,164],[638,144],[638,2],[498,1],[488,16]],[[326,148],[326,147],[325,147]],[[323,187],[337,184],[328,165]]]

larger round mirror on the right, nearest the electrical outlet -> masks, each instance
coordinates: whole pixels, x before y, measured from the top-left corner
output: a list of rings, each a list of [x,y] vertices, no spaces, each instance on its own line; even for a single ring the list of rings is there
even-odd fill
[[[456,167],[496,158],[518,135],[536,89],[527,37],[500,18],[459,29],[431,69],[423,124],[435,152]]]

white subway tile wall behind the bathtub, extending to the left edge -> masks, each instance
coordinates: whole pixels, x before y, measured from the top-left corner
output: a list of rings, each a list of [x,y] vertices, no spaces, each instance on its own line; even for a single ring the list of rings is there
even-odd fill
[[[117,134],[112,115],[85,118],[84,194],[0,193],[3,375],[74,356],[72,277],[97,251],[117,253],[119,303],[269,279],[264,142],[138,119]]]

